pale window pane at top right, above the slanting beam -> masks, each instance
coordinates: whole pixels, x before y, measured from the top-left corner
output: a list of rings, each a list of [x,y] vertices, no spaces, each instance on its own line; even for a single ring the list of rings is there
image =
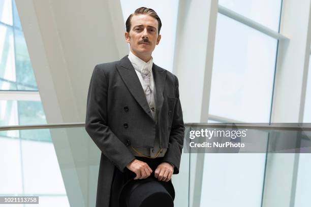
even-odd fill
[[[278,31],[282,0],[219,0],[219,4]]]

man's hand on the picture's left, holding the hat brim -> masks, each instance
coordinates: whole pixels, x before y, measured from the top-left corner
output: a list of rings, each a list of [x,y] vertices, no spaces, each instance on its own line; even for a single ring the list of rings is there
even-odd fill
[[[134,178],[134,180],[148,178],[152,172],[152,169],[149,167],[147,163],[140,161],[138,159],[134,159],[132,162],[130,162],[127,165],[127,168],[135,172],[136,177]]]

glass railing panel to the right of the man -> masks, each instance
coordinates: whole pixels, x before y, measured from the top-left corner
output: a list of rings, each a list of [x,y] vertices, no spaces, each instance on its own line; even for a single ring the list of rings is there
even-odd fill
[[[189,206],[309,206],[310,126],[187,124]]]

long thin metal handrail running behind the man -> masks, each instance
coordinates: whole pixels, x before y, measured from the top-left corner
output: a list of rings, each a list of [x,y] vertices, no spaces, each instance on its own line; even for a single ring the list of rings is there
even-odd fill
[[[260,130],[294,130],[311,131],[311,123],[185,123],[186,127],[210,127],[227,128],[234,126],[237,128],[260,129]],[[84,127],[85,123],[54,123],[54,124],[36,124],[36,125],[15,125],[0,126],[0,131],[24,130],[24,129],[47,129],[47,128],[72,128]]]

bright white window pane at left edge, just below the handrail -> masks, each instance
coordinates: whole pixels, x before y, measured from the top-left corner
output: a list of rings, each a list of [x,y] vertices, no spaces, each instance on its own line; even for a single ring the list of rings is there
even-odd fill
[[[0,135],[0,194],[22,193],[20,145]]]

